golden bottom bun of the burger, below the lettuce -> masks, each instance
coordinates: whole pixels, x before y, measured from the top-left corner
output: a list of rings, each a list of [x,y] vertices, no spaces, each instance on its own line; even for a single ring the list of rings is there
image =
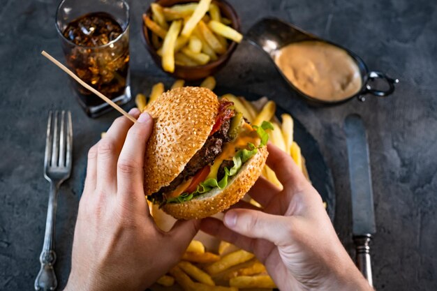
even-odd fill
[[[258,153],[242,166],[223,190],[215,188],[188,202],[165,204],[163,210],[177,219],[193,219],[205,218],[228,209],[241,200],[255,184],[268,155],[267,147],[258,149]]]

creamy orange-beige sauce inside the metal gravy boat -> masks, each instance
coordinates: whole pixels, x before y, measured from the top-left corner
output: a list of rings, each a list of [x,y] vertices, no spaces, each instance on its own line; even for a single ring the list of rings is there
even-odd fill
[[[297,89],[320,100],[343,100],[362,87],[360,69],[353,58],[328,43],[291,43],[279,50],[274,61]]]

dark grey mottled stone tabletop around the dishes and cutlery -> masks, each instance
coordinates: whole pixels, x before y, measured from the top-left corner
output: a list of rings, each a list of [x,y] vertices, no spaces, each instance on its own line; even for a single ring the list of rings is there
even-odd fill
[[[56,271],[68,278],[71,241],[82,191],[87,149],[118,114],[89,119],[67,85],[68,77],[40,56],[62,59],[54,29],[57,1],[0,1],[0,290],[32,290],[43,244],[47,193],[43,149],[47,111],[73,112],[74,170],[61,187]],[[140,40],[140,14],[149,1],[131,3],[133,92],[172,80],[152,63]],[[377,231],[373,271],[377,290],[437,290],[437,2],[231,1],[244,31],[265,16],[281,17],[359,54],[371,69],[399,77],[390,98],[352,100],[315,109],[284,87],[255,47],[239,45],[216,75],[218,84],[265,94],[286,107],[320,143],[334,174],[337,232],[353,254],[350,191],[343,119],[364,117]],[[129,106],[128,106],[129,107]]]

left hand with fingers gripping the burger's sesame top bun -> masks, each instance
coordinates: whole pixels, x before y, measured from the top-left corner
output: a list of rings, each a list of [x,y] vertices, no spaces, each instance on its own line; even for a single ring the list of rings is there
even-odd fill
[[[144,291],[182,257],[197,221],[156,227],[143,190],[143,164],[153,121],[137,109],[132,124],[114,121],[88,154],[66,290]]]

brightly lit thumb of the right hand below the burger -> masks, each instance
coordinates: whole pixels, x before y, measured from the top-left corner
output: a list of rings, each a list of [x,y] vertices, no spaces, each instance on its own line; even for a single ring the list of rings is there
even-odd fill
[[[239,234],[253,239],[266,239],[276,246],[292,241],[292,218],[276,216],[259,210],[232,209],[226,212],[223,223]]]

